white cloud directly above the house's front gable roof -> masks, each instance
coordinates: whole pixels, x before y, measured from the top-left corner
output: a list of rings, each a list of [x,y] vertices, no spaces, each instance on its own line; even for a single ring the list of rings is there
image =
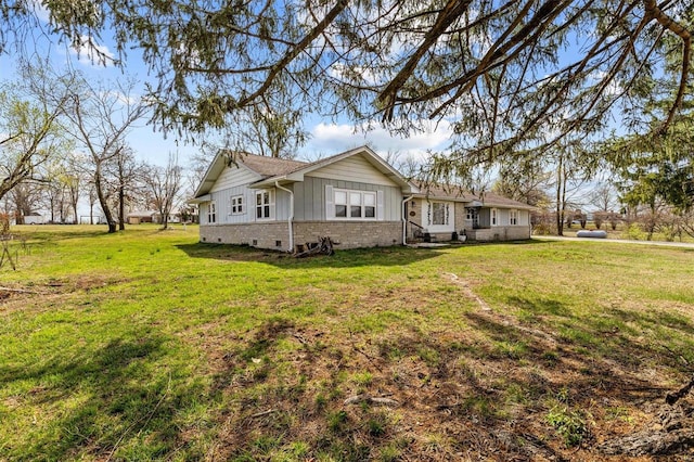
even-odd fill
[[[451,133],[451,125],[446,120],[441,120],[437,126],[430,124],[427,130],[413,132],[408,138],[391,134],[383,127],[364,130],[362,126],[320,123],[311,130],[311,139],[305,151],[333,155],[369,144],[382,157],[386,157],[389,152],[397,152],[403,158],[423,161],[426,158],[427,150],[445,149]]]

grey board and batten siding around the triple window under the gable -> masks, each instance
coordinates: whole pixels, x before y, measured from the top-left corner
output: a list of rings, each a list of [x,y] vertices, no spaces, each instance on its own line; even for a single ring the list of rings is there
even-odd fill
[[[378,172],[383,177],[381,172]],[[385,178],[387,180],[387,178]],[[389,181],[389,180],[388,180]],[[395,183],[393,183],[395,184]],[[399,221],[402,192],[396,185],[363,183],[305,176],[304,181],[294,183],[294,219],[297,221],[325,221],[325,187],[355,191],[383,191],[383,220]],[[378,217],[381,220],[381,217]]]

